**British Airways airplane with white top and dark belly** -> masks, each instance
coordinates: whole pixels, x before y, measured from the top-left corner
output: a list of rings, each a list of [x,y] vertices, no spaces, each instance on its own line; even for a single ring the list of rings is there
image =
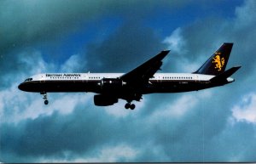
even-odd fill
[[[224,42],[201,67],[192,73],[156,73],[170,50],[148,59],[127,73],[44,73],[31,76],[20,83],[20,90],[43,94],[48,105],[47,93],[90,92],[94,104],[108,106],[125,99],[125,109],[135,109],[133,100],[140,101],[148,93],[181,93],[223,86],[235,79],[230,77],[241,66],[225,71],[232,42]]]

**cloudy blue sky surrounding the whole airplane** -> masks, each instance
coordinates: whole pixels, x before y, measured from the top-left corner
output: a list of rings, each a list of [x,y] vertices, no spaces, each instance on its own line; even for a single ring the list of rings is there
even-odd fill
[[[0,161],[256,161],[256,1],[0,1]],[[94,93],[17,86],[44,72],[193,72],[223,43],[236,82],[95,106]]]

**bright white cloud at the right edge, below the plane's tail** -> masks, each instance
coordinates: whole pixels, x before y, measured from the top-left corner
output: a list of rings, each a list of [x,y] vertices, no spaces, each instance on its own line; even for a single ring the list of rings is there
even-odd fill
[[[256,93],[249,93],[232,109],[236,122],[256,123]]]

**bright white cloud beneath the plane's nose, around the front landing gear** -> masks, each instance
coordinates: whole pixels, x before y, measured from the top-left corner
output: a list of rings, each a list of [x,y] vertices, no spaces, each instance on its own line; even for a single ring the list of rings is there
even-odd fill
[[[54,97],[54,98],[50,98]],[[1,122],[20,122],[36,119],[40,115],[51,115],[58,111],[63,115],[71,113],[76,105],[91,100],[90,93],[48,93],[49,105],[44,105],[40,93],[24,93],[13,84],[0,92]]]

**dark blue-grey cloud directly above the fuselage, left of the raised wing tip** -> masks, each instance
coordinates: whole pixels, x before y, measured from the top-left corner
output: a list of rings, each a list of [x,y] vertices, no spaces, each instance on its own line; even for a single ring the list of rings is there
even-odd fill
[[[107,40],[90,44],[87,49],[85,59],[90,71],[125,72],[160,53],[163,45],[153,30],[129,21]]]

